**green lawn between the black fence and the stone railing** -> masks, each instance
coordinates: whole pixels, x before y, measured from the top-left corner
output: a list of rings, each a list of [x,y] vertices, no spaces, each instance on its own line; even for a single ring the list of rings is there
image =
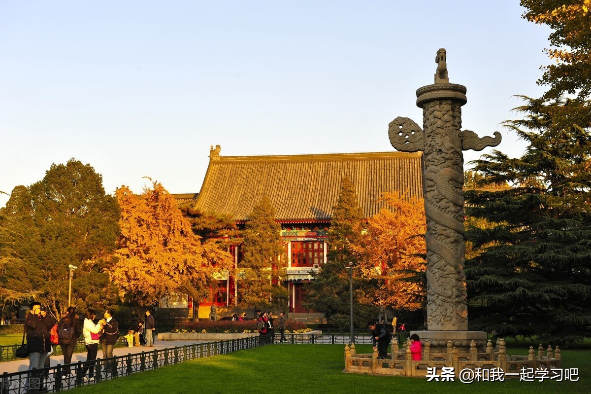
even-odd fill
[[[359,353],[369,353],[359,345]],[[521,349],[519,353],[527,354]],[[565,350],[563,367],[579,368],[579,382],[427,382],[422,378],[342,373],[343,345],[270,345],[121,377],[72,393],[590,393],[591,351]]]

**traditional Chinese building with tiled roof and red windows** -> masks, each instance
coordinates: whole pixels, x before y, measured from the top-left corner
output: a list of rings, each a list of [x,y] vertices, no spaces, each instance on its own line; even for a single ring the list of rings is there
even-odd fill
[[[307,312],[303,283],[310,271],[326,263],[327,230],[343,178],[355,185],[363,215],[370,218],[386,205],[384,192],[423,197],[421,153],[378,152],[298,154],[284,156],[220,156],[210,151],[210,162],[194,207],[202,212],[226,214],[243,225],[264,196],[271,200],[288,256],[285,287],[289,311]],[[239,246],[230,248],[240,267]],[[213,301],[233,305],[236,283],[220,277]]]

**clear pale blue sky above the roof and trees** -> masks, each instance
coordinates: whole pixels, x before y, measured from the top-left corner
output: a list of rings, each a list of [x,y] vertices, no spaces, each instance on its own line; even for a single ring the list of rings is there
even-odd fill
[[[501,131],[535,84],[549,30],[518,0],[0,2],[0,190],[74,157],[105,189],[199,192],[222,156],[391,151],[422,124],[415,91],[447,49],[463,128]],[[483,151],[485,153],[487,150]],[[466,162],[479,157],[469,151]],[[0,196],[0,205],[7,196]]]

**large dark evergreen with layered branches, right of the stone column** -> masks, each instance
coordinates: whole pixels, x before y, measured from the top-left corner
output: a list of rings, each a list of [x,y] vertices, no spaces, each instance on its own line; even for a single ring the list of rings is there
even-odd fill
[[[524,156],[475,162],[514,187],[465,195],[468,215],[495,224],[467,232],[476,248],[489,245],[466,261],[470,324],[569,343],[591,334],[591,108],[525,99],[525,119],[506,123],[530,143]]]

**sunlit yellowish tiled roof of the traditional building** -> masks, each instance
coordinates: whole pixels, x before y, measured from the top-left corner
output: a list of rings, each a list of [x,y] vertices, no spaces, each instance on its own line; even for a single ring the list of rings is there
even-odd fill
[[[355,184],[365,217],[385,207],[383,192],[423,198],[421,153],[211,156],[194,206],[245,221],[264,196],[277,221],[329,221],[344,177]]]

